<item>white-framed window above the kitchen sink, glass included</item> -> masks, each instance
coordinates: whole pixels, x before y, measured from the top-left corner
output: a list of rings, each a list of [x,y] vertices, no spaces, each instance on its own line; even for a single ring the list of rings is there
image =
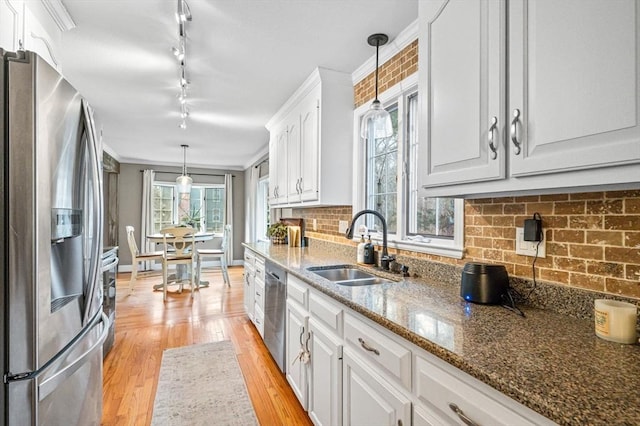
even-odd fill
[[[400,249],[462,257],[463,201],[429,197],[420,185],[420,139],[417,133],[418,89],[413,75],[379,96],[389,111],[394,134],[388,138],[363,141],[358,133],[356,153],[361,164],[355,178],[354,213],[362,209],[380,212],[387,221],[389,246]],[[360,128],[369,104],[354,114],[354,128]],[[363,218],[368,229],[382,231],[373,216]],[[381,235],[372,232],[372,239]],[[354,237],[359,239],[358,229]]]

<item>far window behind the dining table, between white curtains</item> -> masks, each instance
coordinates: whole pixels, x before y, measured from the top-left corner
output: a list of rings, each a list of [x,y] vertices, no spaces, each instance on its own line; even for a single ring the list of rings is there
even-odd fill
[[[154,183],[153,232],[158,233],[173,224],[222,233],[225,224],[224,185],[193,185],[190,194],[178,194],[175,183]]]

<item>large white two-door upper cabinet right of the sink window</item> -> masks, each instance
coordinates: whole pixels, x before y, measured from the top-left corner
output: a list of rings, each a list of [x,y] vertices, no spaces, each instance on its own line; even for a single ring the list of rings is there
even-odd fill
[[[637,186],[640,0],[506,6],[420,2],[422,185],[432,196]]]

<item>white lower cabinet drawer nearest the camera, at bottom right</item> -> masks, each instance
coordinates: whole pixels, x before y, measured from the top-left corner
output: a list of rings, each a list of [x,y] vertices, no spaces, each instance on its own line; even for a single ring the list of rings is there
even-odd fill
[[[463,417],[479,425],[554,424],[438,359],[416,355],[415,383],[416,396],[429,411],[461,425],[466,423]]]

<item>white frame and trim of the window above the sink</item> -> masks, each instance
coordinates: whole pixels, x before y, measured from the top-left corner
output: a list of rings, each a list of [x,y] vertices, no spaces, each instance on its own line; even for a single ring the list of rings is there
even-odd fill
[[[464,253],[464,200],[462,199],[456,199],[454,202],[455,221],[453,238],[424,238],[423,241],[412,241],[407,238],[409,220],[405,206],[408,205],[406,198],[409,197],[409,179],[411,176],[409,176],[409,170],[405,169],[409,167],[407,150],[410,150],[411,147],[408,146],[406,141],[408,133],[406,116],[409,98],[416,93],[420,96],[417,74],[418,73],[414,73],[410,75],[378,95],[378,99],[382,103],[383,108],[387,108],[395,103],[398,104],[398,129],[402,129],[400,134],[398,134],[397,173],[400,177],[400,182],[398,182],[398,196],[396,201],[396,205],[398,206],[397,230],[395,233],[389,233],[387,235],[388,246],[401,250],[462,259]],[[367,142],[363,141],[360,137],[360,123],[362,116],[369,109],[369,104],[369,102],[365,102],[353,112],[353,158],[356,160],[356,167],[353,168],[353,213],[365,209],[367,205]],[[422,113],[420,101],[418,101],[417,113]],[[417,131],[416,135],[419,138],[418,143],[421,144],[423,141],[420,139]],[[420,174],[420,165],[418,164],[414,175],[419,179]],[[375,221],[377,223],[377,219],[375,219]],[[355,234],[356,233],[354,233],[354,240],[357,241],[360,235]],[[382,236],[379,235],[379,233],[373,233],[371,239],[381,243]]]

